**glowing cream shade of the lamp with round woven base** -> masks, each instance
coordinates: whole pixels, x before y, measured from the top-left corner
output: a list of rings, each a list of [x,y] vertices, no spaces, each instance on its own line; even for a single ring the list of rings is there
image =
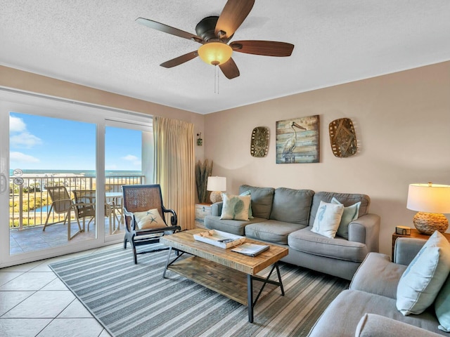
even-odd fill
[[[418,212],[450,213],[450,185],[410,184],[406,208]]]

